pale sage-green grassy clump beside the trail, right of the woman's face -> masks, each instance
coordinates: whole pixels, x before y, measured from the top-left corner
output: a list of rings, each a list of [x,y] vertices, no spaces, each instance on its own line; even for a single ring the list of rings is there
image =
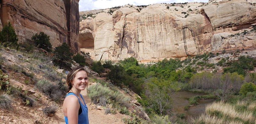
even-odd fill
[[[125,105],[128,103],[130,98],[125,97],[118,91],[113,91],[107,86],[102,86],[101,84],[96,84],[88,88],[88,96],[92,100],[93,104],[106,106],[109,100],[115,101],[115,103],[120,105]]]

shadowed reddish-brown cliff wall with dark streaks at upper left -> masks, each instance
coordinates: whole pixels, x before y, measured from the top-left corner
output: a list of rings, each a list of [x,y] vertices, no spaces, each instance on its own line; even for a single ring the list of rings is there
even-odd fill
[[[73,52],[80,51],[79,0],[1,0],[0,30],[11,21],[19,42],[31,40],[35,33],[50,36],[53,47],[66,42]]]

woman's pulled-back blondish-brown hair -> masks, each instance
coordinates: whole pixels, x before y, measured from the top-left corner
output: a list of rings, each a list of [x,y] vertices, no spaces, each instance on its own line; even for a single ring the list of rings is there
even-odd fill
[[[68,73],[68,76],[67,76],[67,85],[68,85],[68,92],[71,90],[71,88],[72,88],[72,81],[73,81],[73,79],[76,77],[76,74],[79,72],[79,71],[85,71],[86,72],[86,74],[87,74],[87,76],[88,76],[88,72],[86,71],[86,69],[84,68],[84,67],[76,67],[76,68],[74,68],[72,71],[70,71],[69,73]],[[88,87],[88,84],[87,84],[87,86],[86,86],[86,89],[87,89],[87,87]]]

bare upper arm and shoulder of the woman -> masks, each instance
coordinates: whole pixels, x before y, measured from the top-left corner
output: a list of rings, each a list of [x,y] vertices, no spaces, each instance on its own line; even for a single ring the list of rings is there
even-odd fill
[[[70,95],[67,97],[67,117],[68,124],[78,123],[78,111],[80,108],[79,100],[76,96]]]

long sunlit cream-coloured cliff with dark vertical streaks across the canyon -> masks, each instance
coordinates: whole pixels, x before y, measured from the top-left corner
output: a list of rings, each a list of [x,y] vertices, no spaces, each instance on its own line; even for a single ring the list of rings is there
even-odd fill
[[[79,47],[94,60],[179,58],[255,47],[253,1],[153,4],[143,9],[125,5],[112,15],[106,9],[80,22]]]

